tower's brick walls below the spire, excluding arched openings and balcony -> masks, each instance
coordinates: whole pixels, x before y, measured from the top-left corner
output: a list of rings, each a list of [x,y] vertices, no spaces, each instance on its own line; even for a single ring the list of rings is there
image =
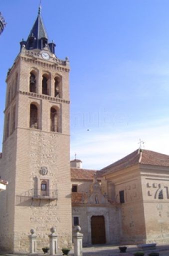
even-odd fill
[[[36,71],[37,91],[29,92],[30,71]],[[22,50],[7,77],[7,91],[18,75],[17,93],[6,103],[5,113],[16,105],[15,131],[3,142],[0,173],[9,181],[0,194],[0,246],[10,252],[28,252],[30,229],[37,234],[37,249],[49,245],[50,228],[56,227],[58,247],[71,245],[71,184],[69,135],[69,67],[58,67],[43,59],[35,61]],[[48,73],[49,95],[41,94],[42,74]],[[54,77],[62,76],[62,98],[54,97]],[[6,95],[6,98],[8,95]],[[38,107],[38,127],[29,128],[30,103]],[[50,108],[60,109],[61,133],[50,131]],[[11,124],[10,124],[11,125]],[[5,125],[4,125],[5,126]],[[5,129],[5,127],[4,127]],[[47,167],[46,175],[40,174]],[[32,198],[48,180],[49,190],[58,191],[55,200]]]

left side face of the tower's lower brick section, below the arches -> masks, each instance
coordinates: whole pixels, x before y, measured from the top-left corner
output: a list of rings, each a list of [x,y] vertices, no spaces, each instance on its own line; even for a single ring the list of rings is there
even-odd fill
[[[16,161],[16,130],[3,143],[0,176],[8,181],[7,189],[0,192],[0,250],[13,250],[14,191]]]

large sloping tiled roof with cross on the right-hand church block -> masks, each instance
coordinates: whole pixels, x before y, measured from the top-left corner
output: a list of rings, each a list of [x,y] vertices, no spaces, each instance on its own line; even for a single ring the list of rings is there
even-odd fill
[[[104,167],[101,174],[114,172],[135,164],[169,166],[169,155],[146,149],[137,149],[122,159]]]

